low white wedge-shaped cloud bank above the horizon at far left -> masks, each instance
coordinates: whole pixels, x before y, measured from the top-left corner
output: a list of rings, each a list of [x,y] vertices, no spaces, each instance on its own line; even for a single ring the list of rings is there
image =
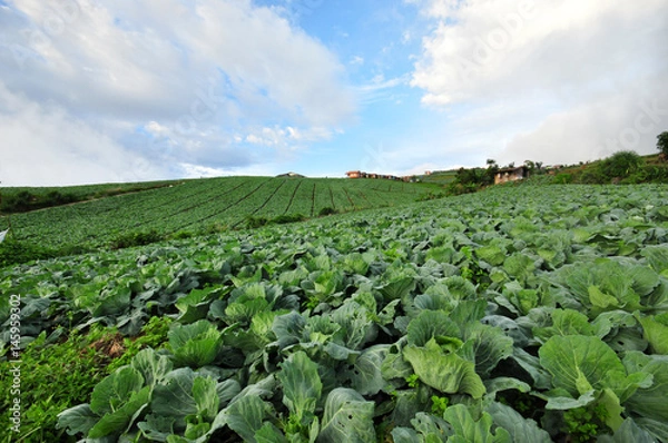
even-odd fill
[[[166,174],[65,109],[11,93],[2,82],[0,102],[11,104],[0,124],[3,186],[138,181]]]

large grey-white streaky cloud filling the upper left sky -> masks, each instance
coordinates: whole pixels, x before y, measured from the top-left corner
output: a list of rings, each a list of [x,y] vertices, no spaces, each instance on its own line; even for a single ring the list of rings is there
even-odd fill
[[[0,81],[11,97],[57,104],[65,126],[85,125],[139,157],[159,146],[155,161],[170,174],[181,163],[257,160],[232,151],[234,135],[267,121],[331,131],[355,112],[343,66],[279,9],[250,0],[9,6],[0,10]],[[0,104],[0,131],[9,107]]]

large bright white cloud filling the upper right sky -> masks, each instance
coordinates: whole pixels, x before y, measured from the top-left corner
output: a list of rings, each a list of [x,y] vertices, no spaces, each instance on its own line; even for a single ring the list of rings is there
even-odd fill
[[[668,125],[662,117],[639,137],[628,129],[639,102],[668,108],[664,0],[409,2],[435,24],[411,85],[446,110],[451,129],[495,135],[483,149],[502,161],[597,158],[621,136],[630,141],[619,149],[648,152]]]

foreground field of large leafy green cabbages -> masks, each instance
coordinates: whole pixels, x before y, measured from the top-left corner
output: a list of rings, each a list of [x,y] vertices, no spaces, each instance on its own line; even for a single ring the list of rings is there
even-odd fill
[[[0,293],[3,376],[16,347],[169,325],[7,441],[668,442],[667,186],[498,186],[4,268]]]

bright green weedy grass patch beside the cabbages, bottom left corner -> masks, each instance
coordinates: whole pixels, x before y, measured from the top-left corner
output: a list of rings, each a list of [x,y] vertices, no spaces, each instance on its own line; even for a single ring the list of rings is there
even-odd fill
[[[130,363],[148,346],[159,348],[167,341],[170,318],[151,318],[134,338],[124,338],[117,329],[94,326],[88,333],[57,329],[39,335],[21,353],[19,440],[8,432],[1,442],[76,442],[57,429],[58,414],[87,403],[94,387],[118,367]],[[17,365],[4,361],[0,372],[10,374]],[[29,368],[29,371],[28,371]],[[0,378],[0,410],[9,411],[16,398],[13,377]],[[10,416],[0,415],[0,429],[10,429]]]

